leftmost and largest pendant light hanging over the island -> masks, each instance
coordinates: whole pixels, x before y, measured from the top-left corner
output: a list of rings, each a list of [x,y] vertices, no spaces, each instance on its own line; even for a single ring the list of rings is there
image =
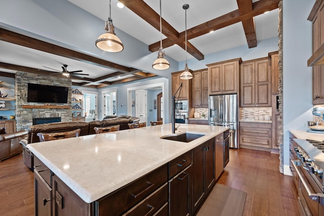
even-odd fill
[[[111,0],[109,0],[109,17],[106,21],[106,33],[101,34],[96,40],[96,46],[103,51],[117,53],[124,50],[124,45],[115,34],[115,28],[112,24],[111,17]]]

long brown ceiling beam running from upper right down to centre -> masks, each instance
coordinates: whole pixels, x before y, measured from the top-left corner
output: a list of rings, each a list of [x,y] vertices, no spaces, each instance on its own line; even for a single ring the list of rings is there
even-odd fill
[[[263,14],[266,11],[272,11],[278,8],[280,0],[260,0],[252,4],[253,11],[244,15],[240,15],[238,10],[229,12],[220,17],[197,25],[187,30],[187,40],[204,35],[209,33],[212,30],[218,30],[224,28],[226,26],[232,25],[234,23],[241,22],[243,20],[251,19],[255,16]],[[181,32],[179,34],[179,38],[177,40],[171,40],[170,38],[163,39],[163,47],[171,47],[175,44],[180,44],[185,40],[185,32]],[[155,52],[159,50],[159,41],[154,44],[149,45],[149,51]]]

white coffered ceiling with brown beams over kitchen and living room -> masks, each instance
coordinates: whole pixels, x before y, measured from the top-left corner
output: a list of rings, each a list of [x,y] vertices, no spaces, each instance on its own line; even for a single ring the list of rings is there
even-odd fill
[[[68,0],[70,3],[104,21],[109,16],[108,0]],[[147,45],[159,49],[159,1],[119,0],[126,7],[118,8],[111,0],[111,18],[118,28]],[[238,46],[254,48],[258,41],[277,36],[279,0],[161,0],[163,48],[166,55],[180,62],[185,60],[185,11],[187,10],[188,59],[203,61],[211,53]],[[264,12],[270,11],[267,14]],[[213,33],[210,33],[214,30]],[[100,88],[156,76],[136,68],[104,61],[44,41],[0,29],[0,76],[15,71],[53,74],[63,64],[69,71],[83,70],[89,76],[71,77],[73,84]],[[51,47],[51,49],[49,49]],[[50,51],[49,51],[50,50]],[[37,59],[37,63],[35,63]],[[126,64],[125,64],[126,65]],[[46,67],[42,67],[46,66]],[[9,74],[9,75],[8,75]],[[61,73],[55,76],[62,76]]]

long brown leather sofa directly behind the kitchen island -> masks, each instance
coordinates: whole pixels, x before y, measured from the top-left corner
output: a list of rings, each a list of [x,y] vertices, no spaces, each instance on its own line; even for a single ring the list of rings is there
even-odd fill
[[[128,123],[139,122],[138,117],[123,115],[123,116],[107,116],[103,120],[95,120],[90,122],[83,121],[63,121],[46,124],[36,124],[28,127],[27,139],[21,140],[20,144],[23,149],[23,160],[24,164],[29,168],[33,169],[33,156],[28,149],[29,143],[39,142],[37,133],[55,133],[55,132],[66,132],[73,131],[80,128],[80,136],[95,134],[94,127],[106,127],[119,124],[120,130],[129,129]]]

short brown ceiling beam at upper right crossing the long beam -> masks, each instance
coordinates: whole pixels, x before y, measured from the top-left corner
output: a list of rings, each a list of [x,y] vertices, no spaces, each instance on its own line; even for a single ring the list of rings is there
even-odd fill
[[[253,11],[252,0],[236,0],[239,15],[245,15]],[[254,17],[242,20],[243,29],[247,38],[249,48],[257,46],[257,34],[255,31]]]

